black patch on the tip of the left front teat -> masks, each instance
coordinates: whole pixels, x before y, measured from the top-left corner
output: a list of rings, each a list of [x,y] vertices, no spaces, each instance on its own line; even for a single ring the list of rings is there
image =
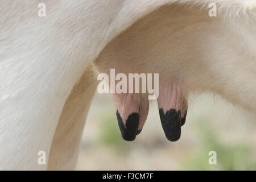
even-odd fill
[[[133,141],[136,138],[139,127],[139,113],[131,113],[126,120],[126,125],[123,124],[123,119],[117,110],[118,126],[122,134],[122,138],[126,141]]]

